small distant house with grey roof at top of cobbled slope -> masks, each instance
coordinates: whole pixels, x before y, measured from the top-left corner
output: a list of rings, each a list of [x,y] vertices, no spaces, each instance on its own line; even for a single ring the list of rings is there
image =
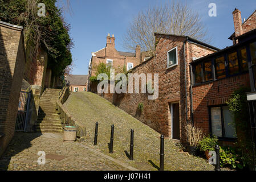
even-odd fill
[[[70,84],[70,92],[87,91],[87,75],[67,75],[65,80]]]

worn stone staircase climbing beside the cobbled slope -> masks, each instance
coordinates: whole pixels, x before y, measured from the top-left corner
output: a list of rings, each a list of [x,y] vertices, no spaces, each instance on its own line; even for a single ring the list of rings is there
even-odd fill
[[[38,122],[36,131],[42,133],[62,132],[62,123],[55,109],[60,89],[44,90],[39,102]]]

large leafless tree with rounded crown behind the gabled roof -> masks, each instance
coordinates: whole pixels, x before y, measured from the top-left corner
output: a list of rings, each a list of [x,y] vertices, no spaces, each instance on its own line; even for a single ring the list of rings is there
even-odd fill
[[[173,1],[165,5],[149,6],[147,10],[135,16],[123,37],[123,47],[134,51],[139,44],[141,51],[149,51],[150,56],[153,56],[155,32],[186,35],[204,42],[210,41],[206,38],[207,30],[198,13],[184,3]]]

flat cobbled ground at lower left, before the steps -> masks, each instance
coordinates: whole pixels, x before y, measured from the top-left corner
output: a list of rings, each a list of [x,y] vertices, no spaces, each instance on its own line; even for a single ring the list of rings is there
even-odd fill
[[[76,143],[65,143],[62,134],[17,133],[0,158],[0,170],[120,171],[128,170]],[[38,151],[46,152],[46,164],[39,165]],[[61,155],[62,160],[47,159],[47,154]]]

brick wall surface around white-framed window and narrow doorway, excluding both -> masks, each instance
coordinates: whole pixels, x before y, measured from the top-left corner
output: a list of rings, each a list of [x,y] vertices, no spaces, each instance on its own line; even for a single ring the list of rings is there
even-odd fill
[[[119,106],[121,109],[139,119],[141,122],[152,127],[166,137],[171,135],[171,122],[169,103],[179,102],[180,104],[180,138],[185,140],[184,124],[186,123],[186,105],[185,105],[185,67],[184,67],[184,47],[185,38],[177,36],[158,35],[156,56],[138,67],[134,68],[131,73],[159,73],[159,98],[148,100],[148,94],[104,94],[104,98]],[[176,47],[178,49],[178,65],[167,68],[167,52]],[[189,113],[189,62],[193,57],[206,56],[214,51],[198,44],[187,42],[185,45],[186,76],[187,76],[187,103],[188,119]],[[152,81],[153,84],[153,81]],[[141,86],[141,85],[140,85]],[[137,110],[139,103],[144,104],[144,110],[140,113]]]

